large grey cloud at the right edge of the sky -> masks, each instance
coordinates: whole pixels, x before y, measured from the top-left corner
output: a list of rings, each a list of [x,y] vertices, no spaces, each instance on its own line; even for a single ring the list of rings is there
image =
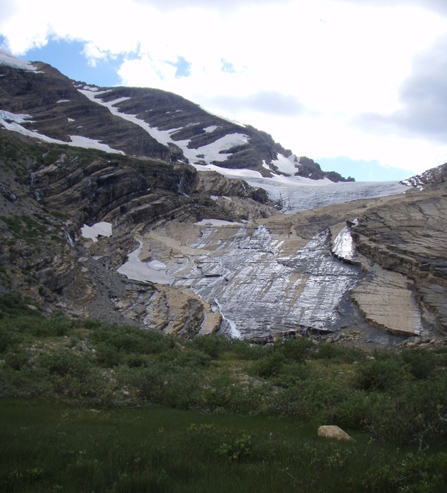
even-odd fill
[[[391,115],[366,113],[358,123],[376,133],[395,133],[445,144],[447,135],[447,36],[415,58],[400,91],[402,107]]]

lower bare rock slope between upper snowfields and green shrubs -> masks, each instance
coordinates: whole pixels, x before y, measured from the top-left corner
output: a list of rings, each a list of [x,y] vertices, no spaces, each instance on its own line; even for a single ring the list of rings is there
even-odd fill
[[[188,336],[446,329],[445,183],[285,215],[188,165],[0,142],[2,289]]]

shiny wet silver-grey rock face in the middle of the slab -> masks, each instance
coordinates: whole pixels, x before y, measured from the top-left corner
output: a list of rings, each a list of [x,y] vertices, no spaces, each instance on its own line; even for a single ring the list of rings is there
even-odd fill
[[[153,254],[175,278],[172,286],[206,299],[231,336],[331,331],[341,298],[361,277],[360,269],[331,255],[328,230],[299,247],[300,240],[274,238],[263,225],[196,226],[185,245],[191,253],[171,250],[169,258],[162,245],[166,229],[153,233],[161,240],[152,243]],[[285,254],[291,249],[294,254]]]

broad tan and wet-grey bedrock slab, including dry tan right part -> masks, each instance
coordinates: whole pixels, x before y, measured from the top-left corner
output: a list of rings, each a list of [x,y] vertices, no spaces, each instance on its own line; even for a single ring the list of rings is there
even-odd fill
[[[356,328],[363,342],[388,343],[374,329],[426,334],[408,279],[356,252],[342,218],[367,206],[361,200],[239,224],[165,222],[141,238],[140,260],[155,266],[146,281],[163,273],[171,288],[206,301],[221,314],[221,331],[237,337]]]

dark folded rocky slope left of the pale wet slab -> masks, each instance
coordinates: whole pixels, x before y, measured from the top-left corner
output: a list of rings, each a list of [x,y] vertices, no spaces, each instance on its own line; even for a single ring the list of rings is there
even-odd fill
[[[8,192],[1,198],[1,260],[7,267],[0,285],[80,314],[100,316],[101,310],[113,310],[118,319],[140,321],[138,306],[146,299],[140,288],[122,290],[118,276],[113,279],[107,271],[125,261],[134,234],[150,231],[155,223],[197,221],[210,215],[238,220],[274,213],[268,204],[254,200],[265,201],[262,191],[220,175],[207,184],[188,165],[36,144],[6,130],[0,130],[0,137],[1,183]],[[228,196],[211,198],[209,192]],[[113,223],[113,238],[98,244],[82,238],[80,227],[99,220]],[[93,257],[100,262],[92,263]],[[188,335],[217,330],[220,315],[193,293],[168,287],[153,291],[159,295],[150,297],[151,328]],[[140,301],[131,306],[123,301],[134,297]],[[125,309],[116,308],[118,302]]]

